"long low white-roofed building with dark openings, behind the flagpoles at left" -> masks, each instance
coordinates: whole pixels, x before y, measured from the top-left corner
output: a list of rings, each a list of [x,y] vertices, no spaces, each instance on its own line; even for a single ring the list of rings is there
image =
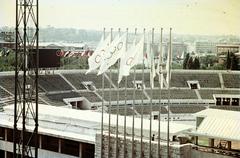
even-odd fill
[[[0,113],[0,157],[12,157],[13,105],[5,106]],[[108,129],[107,113],[104,114],[104,129]],[[111,116],[112,127],[116,127],[116,115]],[[141,120],[135,120],[136,135],[140,135]],[[153,134],[157,135],[158,121],[153,122]],[[161,122],[161,138],[166,140],[167,122]],[[20,125],[19,125],[20,126]],[[28,120],[27,127],[32,129],[33,120]],[[119,133],[123,133],[124,116],[119,116]],[[144,119],[144,137],[148,137],[149,120]],[[190,125],[171,123],[170,137],[183,131],[190,131]],[[39,104],[39,158],[93,158],[96,142],[101,129],[101,113],[91,110],[76,110],[69,107],[55,107]],[[127,130],[132,129],[132,118],[127,117]],[[137,136],[136,136],[137,138]],[[139,138],[138,138],[139,139]],[[164,144],[164,143],[163,143]],[[165,143],[166,144],[166,143]],[[31,157],[31,155],[29,155]]]

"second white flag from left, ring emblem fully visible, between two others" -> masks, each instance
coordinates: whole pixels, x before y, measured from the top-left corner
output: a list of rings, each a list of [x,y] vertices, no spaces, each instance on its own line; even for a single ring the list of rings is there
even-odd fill
[[[104,52],[101,66],[98,71],[98,75],[107,71],[107,69],[116,63],[116,61],[126,51],[127,34],[124,33],[121,37],[116,37],[108,49]]]

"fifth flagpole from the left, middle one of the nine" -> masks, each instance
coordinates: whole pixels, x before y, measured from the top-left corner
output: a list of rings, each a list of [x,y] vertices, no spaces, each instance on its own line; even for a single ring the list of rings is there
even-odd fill
[[[135,28],[135,39],[137,37],[137,28]],[[135,44],[135,43],[134,43]],[[134,125],[135,125],[135,99],[136,99],[136,66],[134,66],[133,68],[134,72],[133,72],[133,85],[134,85],[134,89],[133,89],[133,104],[132,104],[132,109],[133,109],[133,113],[132,113],[132,158],[135,157],[135,148],[134,148]]]

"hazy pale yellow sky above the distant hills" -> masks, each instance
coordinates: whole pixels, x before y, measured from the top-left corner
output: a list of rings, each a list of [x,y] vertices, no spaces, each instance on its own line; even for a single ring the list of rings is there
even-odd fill
[[[240,35],[240,0],[39,0],[40,26],[135,27],[178,34]],[[0,0],[0,26],[15,26],[15,0]]]

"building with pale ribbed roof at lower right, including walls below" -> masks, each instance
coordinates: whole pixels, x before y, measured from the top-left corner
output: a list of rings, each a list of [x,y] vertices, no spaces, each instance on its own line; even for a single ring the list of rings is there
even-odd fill
[[[196,145],[193,147],[193,157],[240,156],[239,111],[206,109],[195,116],[196,129],[190,133]]]

